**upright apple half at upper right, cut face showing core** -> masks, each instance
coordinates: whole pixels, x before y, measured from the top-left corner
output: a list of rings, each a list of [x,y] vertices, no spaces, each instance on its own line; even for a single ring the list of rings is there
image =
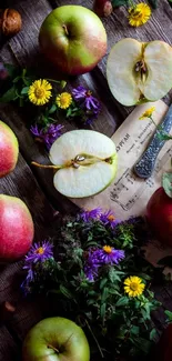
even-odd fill
[[[122,39],[109,54],[107,79],[123,106],[156,101],[172,88],[172,47],[159,40]]]

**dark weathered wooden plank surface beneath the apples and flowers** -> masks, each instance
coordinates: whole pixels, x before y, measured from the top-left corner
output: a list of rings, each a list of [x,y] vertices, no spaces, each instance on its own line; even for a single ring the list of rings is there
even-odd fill
[[[22,67],[33,64],[41,68],[45,74],[49,69],[39,53],[39,29],[52,8],[67,3],[81,4],[92,9],[93,1],[3,1],[3,8],[13,7],[20,11],[23,27],[20,33],[9,41],[1,39],[1,60]],[[103,23],[108,33],[108,53],[113,43],[124,37],[143,41],[161,39],[172,44],[172,9],[166,0],[159,0],[159,8],[153,11],[151,20],[144,27],[138,29],[129,27],[127,10],[123,7],[117,9],[108,19],[103,19]],[[105,79],[107,56],[90,73],[70,79],[69,89],[77,84],[83,84],[93,91],[101,100],[102,112],[91,128],[111,137],[132,108],[120,106],[110,93]],[[57,76],[54,71],[52,71],[52,76]],[[171,100],[172,93],[165,98],[166,103],[170,103]],[[14,104],[0,106],[0,119],[14,130],[20,143],[18,166],[12,174],[0,180],[0,193],[20,197],[28,204],[36,224],[36,241],[40,241],[52,232],[54,209],[67,213],[75,211],[75,207],[53,189],[51,171],[31,167],[32,160],[39,162],[49,160],[44,149],[33,141],[28,127],[29,117],[28,111],[19,109]],[[65,131],[74,128],[77,124],[64,122]],[[0,303],[8,300],[17,304],[13,318],[0,327],[0,361],[20,360],[21,344],[27,331],[43,314],[43,307],[41,309],[40,302],[29,302],[21,298],[19,285],[22,277],[22,261],[2,265],[0,269]],[[163,308],[172,311],[172,288],[154,287],[154,291],[156,298],[162,301]],[[160,309],[153,317],[160,332],[164,322],[162,313],[162,309]]]

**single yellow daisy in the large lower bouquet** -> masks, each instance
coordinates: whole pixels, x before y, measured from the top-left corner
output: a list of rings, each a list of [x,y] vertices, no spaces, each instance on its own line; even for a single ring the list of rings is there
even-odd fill
[[[144,291],[145,284],[136,275],[131,275],[124,280],[124,291],[129,297],[141,295]]]

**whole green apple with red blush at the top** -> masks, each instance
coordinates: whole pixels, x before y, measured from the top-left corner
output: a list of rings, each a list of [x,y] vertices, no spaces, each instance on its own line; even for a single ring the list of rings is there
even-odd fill
[[[107,51],[107,32],[99,17],[81,6],[54,9],[43,21],[39,43],[41,51],[68,74],[93,69]]]

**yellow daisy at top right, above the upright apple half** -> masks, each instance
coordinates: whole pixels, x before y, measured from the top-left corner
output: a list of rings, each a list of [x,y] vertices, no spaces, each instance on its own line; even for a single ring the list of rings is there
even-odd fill
[[[129,23],[131,27],[141,27],[151,17],[151,8],[140,2],[138,6],[133,6],[129,9]]]

